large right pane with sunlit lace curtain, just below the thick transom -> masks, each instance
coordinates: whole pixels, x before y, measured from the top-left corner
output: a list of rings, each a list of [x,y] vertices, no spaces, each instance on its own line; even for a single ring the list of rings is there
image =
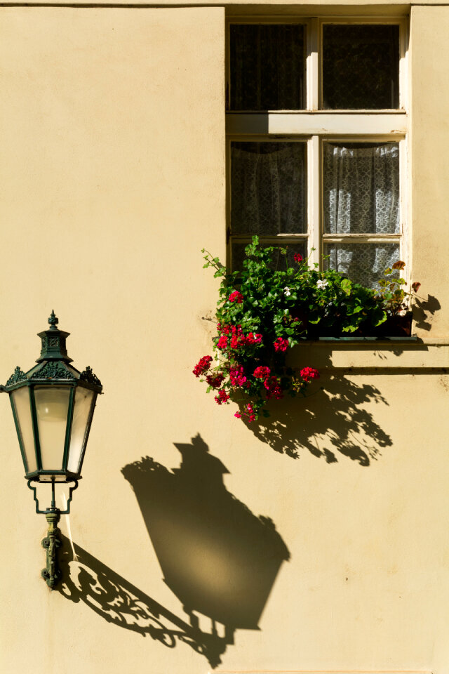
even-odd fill
[[[327,234],[398,234],[399,144],[324,143]]]

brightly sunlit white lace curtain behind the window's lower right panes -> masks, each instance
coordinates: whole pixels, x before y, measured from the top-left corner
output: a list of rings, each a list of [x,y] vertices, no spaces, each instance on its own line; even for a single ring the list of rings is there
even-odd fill
[[[326,143],[323,199],[326,234],[399,234],[398,143]],[[375,287],[399,244],[327,244],[324,253],[330,267]]]

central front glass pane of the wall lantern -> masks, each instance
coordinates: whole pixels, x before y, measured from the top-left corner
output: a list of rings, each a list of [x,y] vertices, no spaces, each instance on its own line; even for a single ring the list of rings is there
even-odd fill
[[[62,470],[69,395],[69,386],[34,388],[43,470]]]

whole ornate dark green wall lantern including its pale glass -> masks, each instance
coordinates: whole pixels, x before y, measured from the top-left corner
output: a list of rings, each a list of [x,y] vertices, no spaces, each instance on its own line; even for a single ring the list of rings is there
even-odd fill
[[[39,332],[41,355],[26,373],[16,367],[1,390],[9,394],[28,487],[34,492],[36,513],[46,516],[48,534],[43,538],[47,564],[41,576],[50,588],[60,579],[57,527],[60,515],[70,512],[72,491],[81,480],[81,467],[97,395],[102,384],[90,367],[79,372],[67,355],[68,332],[59,330],[51,312],[50,328]],[[51,505],[39,510],[37,483],[51,484]],[[69,483],[67,508],[55,503],[55,482]]]

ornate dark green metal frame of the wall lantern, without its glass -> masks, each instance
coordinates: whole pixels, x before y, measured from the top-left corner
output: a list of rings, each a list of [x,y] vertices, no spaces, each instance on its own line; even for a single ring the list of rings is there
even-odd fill
[[[69,333],[58,329],[58,318],[55,316],[54,311],[51,312],[48,323],[50,324],[50,328],[38,333],[38,336],[41,338],[41,355],[36,360],[37,364],[27,372],[22,371],[22,369],[17,366],[6,382],[6,385],[0,386],[0,391],[7,392],[10,397],[15,430],[19,440],[20,454],[22,455],[23,465],[25,467],[25,479],[27,480],[29,489],[32,489],[33,491],[34,501],[36,503],[36,513],[45,515],[48,522],[48,533],[46,538],[43,538],[42,541],[42,546],[46,549],[47,564],[46,568],[42,569],[41,576],[46,580],[48,586],[51,589],[54,589],[55,585],[60,580],[57,550],[60,547],[61,542],[57,525],[60,520],[60,515],[68,515],[70,513],[72,493],[78,487],[79,480],[81,480],[81,470],[91,430],[93,412],[95,410],[97,397],[102,393],[102,383],[89,366],[80,372],[70,364],[72,363],[72,358],[69,358],[67,355],[65,345]],[[18,410],[16,409],[16,402],[13,396],[16,390],[25,387],[28,390],[27,401],[29,402],[29,413],[31,416],[34,456],[32,456],[32,452],[30,453],[30,447],[28,447],[27,455],[25,441],[22,437],[22,429],[20,428]],[[62,465],[61,468],[44,469],[42,468],[41,437],[39,435],[39,423],[34,392],[36,388],[41,390],[42,388],[54,389],[55,387],[58,387],[59,390],[69,390],[64,447],[62,448]],[[92,399],[87,416],[83,419],[85,425],[82,427],[83,435],[81,446],[79,447],[79,457],[76,457],[78,465],[76,470],[69,470],[69,451],[73,440],[72,429],[74,410],[76,407],[75,396],[76,391],[79,390],[79,388],[91,391]],[[67,394],[65,393],[64,395],[66,396]],[[31,470],[30,459],[36,464],[36,468],[32,465]],[[73,466],[71,466],[71,468],[73,469]],[[46,508],[46,510],[41,510],[39,508],[39,500],[36,496],[37,484],[39,483],[51,484],[51,505]],[[67,507],[65,510],[60,510],[60,508],[56,507],[55,483],[69,484],[69,496],[67,498]]]

